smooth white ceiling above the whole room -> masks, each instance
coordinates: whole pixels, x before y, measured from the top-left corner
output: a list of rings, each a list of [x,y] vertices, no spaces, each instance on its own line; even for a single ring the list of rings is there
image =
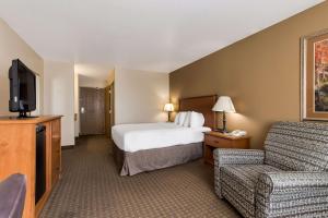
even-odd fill
[[[323,0],[0,0],[45,59],[171,72]]]

